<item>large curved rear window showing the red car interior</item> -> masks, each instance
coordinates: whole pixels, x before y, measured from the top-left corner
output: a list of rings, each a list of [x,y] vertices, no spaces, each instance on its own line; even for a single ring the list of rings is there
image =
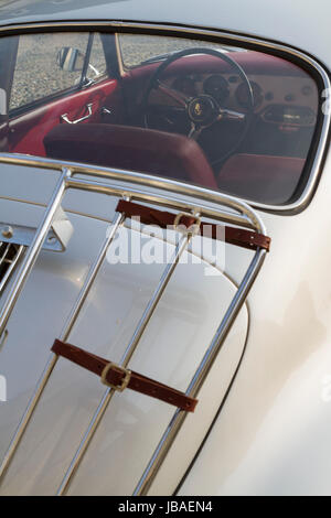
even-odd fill
[[[284,57],[146,34],[24,34],[1,39],[0,56],[1,45],[12,77],[2,151],[268,205],[291,203],[308,182],[320,94]]]

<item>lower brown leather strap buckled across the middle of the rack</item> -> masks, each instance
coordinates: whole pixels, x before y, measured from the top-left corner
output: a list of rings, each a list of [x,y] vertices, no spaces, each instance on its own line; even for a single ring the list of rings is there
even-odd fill
[[[90,373],[100,376],[105,385],[108,385],[116,390],[129,388],[137,392],[145,393],[146,396],[161,399],[162,401],[181,408],[186,412],[194,412],[197,400],[189,398],[183,392],[180,392],[172,387],[168,387],[159,381],[147,378],[134,370],[125,369],[105,358],[100,358],[99,356],[87,353],[87,350],[81,349],[75,345],[61,342],[60,339],[55,339],[52,350],[57,356],[63,356],[74,364],[90,370]]]

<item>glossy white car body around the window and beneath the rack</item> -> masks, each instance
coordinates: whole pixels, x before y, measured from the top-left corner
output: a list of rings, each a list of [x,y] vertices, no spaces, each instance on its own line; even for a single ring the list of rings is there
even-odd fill
[[[256,40],[257,45],[307,55],[328,80],[330,15],[325,0],[233,0],[226,6],[216,0],[128,0],[86,7],[78,0],[22,0],[0,8],[0,30],[95,21],[220,31],[234,44]],[[296,206],[278,212],[252,203],[273,239],[270,253],[206,378],[196,411],[185,420],[148,495],[331,494],[328,125],[327,120],[313,165],[313,196],[306,193]],[[58,172],[28,166],[20,158],[15,164],[14,159],[9,163],[0,155],[0,220],[35,227]],[[63,208],[75,227],[65,259],[42,252],[9,320],[8,337],[0,346],[0,376],[7,379],[8,392],[8,401],[0,402],[0,458],[6,458],[50,347],[111,220],[115,202],[109,205],[100,197],[92,204],[89,196],[74,191],[65,198]],[[132,358],[135,370],[185,390],[202,344],[212,339],[241,281],[248,253],[231,250],[225,265],[211,266],[204,257],[194,268],[179,267]],[[205,268],[218,267],[225,267],[222,276],[204,276]],[[86,348],[95,342],[95,350],[111,350],[118,361],[162,268],[108,265],[71,341]],[[1,304],[9,289],[1,294]],[[154,350],[156,342],[160,348]],[[181,346],[171,348],[174,343]],[[103,393],[93,375],[61,359],[0,494],[55,494]],[[170,407],[142,396],[116,395],[66,493],[131,494],[172,414]]]

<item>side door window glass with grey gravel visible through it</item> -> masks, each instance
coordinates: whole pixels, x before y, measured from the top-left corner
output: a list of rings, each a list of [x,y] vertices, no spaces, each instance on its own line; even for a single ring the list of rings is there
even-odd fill
[[[87,33],[25,34],[19,40],[17,64],[10,96],[10,109],[20,108],[43,97],[79,84],[82,67],[73,72],[58,67],[57,55],[64,46],[77,48],[83,64]]]

